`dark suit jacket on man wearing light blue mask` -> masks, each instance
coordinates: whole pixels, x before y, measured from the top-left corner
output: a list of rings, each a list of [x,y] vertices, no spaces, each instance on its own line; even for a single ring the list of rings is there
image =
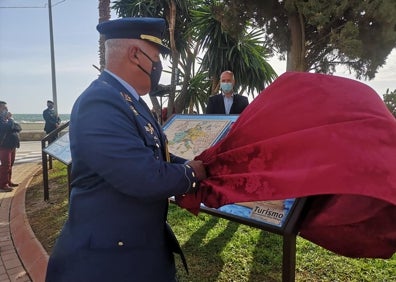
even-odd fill
[[[230,109],[230,115],[238,115],[249,105],[247,97],[234,94],[233,102]],[[217,94],[209,97],[206,114],[225,114],[223,94]]]

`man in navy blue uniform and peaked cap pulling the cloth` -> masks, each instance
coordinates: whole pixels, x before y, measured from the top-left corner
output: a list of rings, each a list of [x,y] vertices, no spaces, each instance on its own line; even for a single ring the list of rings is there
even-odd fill
[[[166,222],[168,198],[194,193],[201,161],[171,155],[142,100],[158,85],[165,21],[100,23],[106,66],[70,116],[69,217],[50,256],[46,281],[176,281],[180,246]],[[184,257],[182,257],[184,258]]]

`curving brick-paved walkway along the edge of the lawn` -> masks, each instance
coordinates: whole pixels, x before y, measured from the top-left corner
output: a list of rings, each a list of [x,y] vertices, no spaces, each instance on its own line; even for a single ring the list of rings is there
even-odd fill
[[[12,192],[0,192],[0,282],[45,280],[48,254],[25,213],[26,188],[40,169],[40,141],[21,142],[12,175],[19,186]]]

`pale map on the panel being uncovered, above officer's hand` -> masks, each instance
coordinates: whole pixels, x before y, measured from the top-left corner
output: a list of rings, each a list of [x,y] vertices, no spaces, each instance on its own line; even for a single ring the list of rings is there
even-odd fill
[[[229,124],[225,119],[176,119],[165,129],[169,152],[192,160],[216,143]]]

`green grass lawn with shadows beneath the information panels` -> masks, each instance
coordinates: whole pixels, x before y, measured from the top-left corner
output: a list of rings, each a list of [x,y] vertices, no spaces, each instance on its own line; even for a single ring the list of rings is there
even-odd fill
[[[54,161],[50,201],[44,202],[38,174],[26,194],[26,211],[34,233],[48,253],[67,218],[66,166]],[[176,257],[180,282],[281,281],[282,237],[200,213],[194,216],[171,204],[168,220],[186,255],[190,274]],[[351,259],[297,237],[296,281],[396,281],[396,254],[388,260]]]

